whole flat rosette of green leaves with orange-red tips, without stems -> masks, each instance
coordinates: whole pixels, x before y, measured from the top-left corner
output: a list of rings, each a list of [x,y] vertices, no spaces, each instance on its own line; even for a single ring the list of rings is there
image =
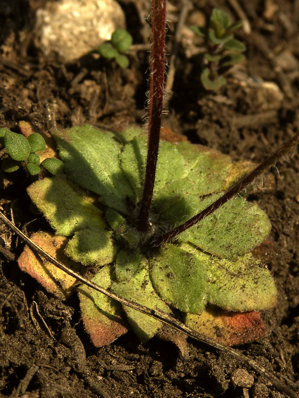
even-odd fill
[[[31,200],[55,234],[32,240],[92,281],[120,296],[171,313],[226,344],[259,339],[257,311],[276,304],[270,271],[252,254],[271,225],[255,203],[238,196],[161,247],[154,236],[182,224],[218,199],[252,169],[215,150],[186,141],[160,142],[150,215],[151,230],[137,230],[147,155],[139,128],[103,132],[86,125],[53,133],[66,174],[28,187]],[[75,280],[28,249],[19,266],[49,292],[66,298]],[[84,327],[95,346],[131,327],[142,342],[161,323],[92,289],[77,288]],[[229,312],[228,312],[229,311]],[[220,332],[219,332],[220,331]]]

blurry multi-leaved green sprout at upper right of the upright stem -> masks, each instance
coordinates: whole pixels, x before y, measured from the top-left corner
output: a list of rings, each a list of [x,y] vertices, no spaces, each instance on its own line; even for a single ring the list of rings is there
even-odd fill
[[[231,23],[229,15],[219,8],[214,8],[209,26],[201,28],[192,25],[190,29],[205,39],[207,51],[203,54],[206,66],[200,80],[206,90],[218,90],[226,84],[223,74],[233,65],[245,59],[246,46],[234,38],[234,31],[242,26],[242,21]]]

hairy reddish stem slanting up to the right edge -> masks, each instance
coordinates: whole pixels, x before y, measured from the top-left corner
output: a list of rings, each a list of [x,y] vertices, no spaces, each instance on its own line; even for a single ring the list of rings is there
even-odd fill
[[[234,196],[238,195],[244,188],[248,187],[257,177],[263,174],[270,166],[273,166],[278,162],[281,158],[283,158],[292,148],[295,147],[297,142],[299,141],[299,133],[293,135],[280,149],[274,152],[273,155],[269,156],[263,163],[261,163],[256,169],[254,169],[247,177],[245,177],[239,184],[229,190],[226,194],[217,199],[214,203],[210,204],[200,213],[194,215],[194,217],[190,218],[183,224],[178,227],[172,229],[167,232],[165,235],[155,237],[152,245],[158,246],[167,240],[170,240],[184,232],[186,229],[192,227],[197,224],[203,218],[212,214],[217,208],[223,206],[228,200],[232,199]]]

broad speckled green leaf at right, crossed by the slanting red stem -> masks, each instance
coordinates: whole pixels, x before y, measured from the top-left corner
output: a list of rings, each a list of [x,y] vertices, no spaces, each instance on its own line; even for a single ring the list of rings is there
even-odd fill
[[[199,211],[219,196],[203,199]],[[270,230],[271,223],[262,209],[235,197],[178,237],[217,257],[236,259],[261,244]]]

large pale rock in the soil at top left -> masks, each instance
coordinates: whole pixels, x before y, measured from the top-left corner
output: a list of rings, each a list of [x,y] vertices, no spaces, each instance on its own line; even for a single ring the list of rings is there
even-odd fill
[[[125,28],[125,14],[115,0],[60,0],[36,12],[35,45],[46,56],[72,62]]]

